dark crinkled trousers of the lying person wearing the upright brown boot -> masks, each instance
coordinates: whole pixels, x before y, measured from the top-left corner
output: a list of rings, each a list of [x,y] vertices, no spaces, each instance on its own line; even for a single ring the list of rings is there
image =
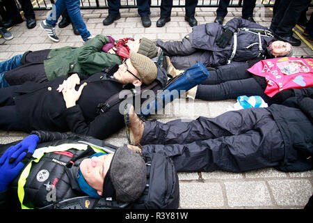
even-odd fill
[[[143,153],[166,153],[177,171],[250,171],[280,164],[282,134],[268,109],[241,109],[216,118],[147,121]]]

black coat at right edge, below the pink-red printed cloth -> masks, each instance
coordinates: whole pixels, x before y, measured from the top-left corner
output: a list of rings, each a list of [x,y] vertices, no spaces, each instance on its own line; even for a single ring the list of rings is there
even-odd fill
[[[295,97],[268,107],[284,139],[281,171],[313,168],[313,87],[292,91]]]

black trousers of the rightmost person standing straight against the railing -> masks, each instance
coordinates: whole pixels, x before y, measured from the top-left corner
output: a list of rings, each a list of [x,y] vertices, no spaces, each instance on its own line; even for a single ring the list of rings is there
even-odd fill
[[[243,0],[242,6],[242,17],[247,19],[248,17],[253,17],[253,9],[255,8],[256,0]],[[225,17],[228,13],[227,7],[230,5],[230,0],[220,0],[218,4],[218,9],[216,10],[216,15],[219,17]]]

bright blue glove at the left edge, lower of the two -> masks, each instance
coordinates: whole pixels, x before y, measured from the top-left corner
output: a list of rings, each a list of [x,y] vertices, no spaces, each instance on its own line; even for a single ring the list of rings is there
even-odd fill
[[[0,192],[8,188],[9,183],[14,180],[19,171],[21,171],[25,164],[20,162],[26,156],[26,152],[16,150],[15,146],[11,146],[0,157]],[[10,157],[15,156],[15,162],[10,162]]]

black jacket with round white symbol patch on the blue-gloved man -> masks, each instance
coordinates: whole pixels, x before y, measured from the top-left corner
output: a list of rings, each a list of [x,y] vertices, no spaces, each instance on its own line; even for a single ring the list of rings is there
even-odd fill
[[[97,139],[79,134],[59,132],[33,131],[31,134],[38,134],[40,137],[40,143],[36,151],[47,146],[65,144],[86,146],[86,150],[78,150],[73,148],[74,146],[67,146],[68,149],[66,151],[45,153],[39,162],[33,162],[29,176],[26,179],[26,184],[24,185],[24,206],[28,208],[40,208],[54,201],[86,196],[86,194],[81,192],[77,184],[77,173],[81,161],[93,155],[95,151],[90,146],[81,144],[78,141],[93,142],[93,140]],[[99,141],[97,140],[97,142]],[[104,146],[104,144],[105,142],[103,141],[103,144],[99,146]],[[1,151],[3,151],[2,147]],[[21,208],[17,195],[19,178],[20,175],[10,184],[6,192],[0,194],[0,208]]]

